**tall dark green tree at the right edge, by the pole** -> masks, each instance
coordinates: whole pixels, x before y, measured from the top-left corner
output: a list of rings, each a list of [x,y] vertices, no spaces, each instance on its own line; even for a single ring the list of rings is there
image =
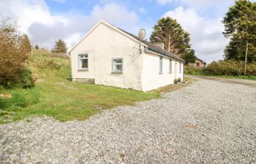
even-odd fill
[[[225,48],[225,59],[244,60],[249,43],[248,61],[256,60],[256,2],[238,0],[222,20],[224,36],[230,38]]]

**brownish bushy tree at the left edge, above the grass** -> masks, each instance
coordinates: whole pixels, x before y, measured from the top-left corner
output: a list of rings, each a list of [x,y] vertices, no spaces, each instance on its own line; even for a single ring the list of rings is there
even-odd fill
[[[10,87],[13,83],[23,82],[23,73],[28,72],[24,63],[29,58],[28,50],[25,49],[25,37],[19,35],[17,26],[10,23],[9,19],[1,21],[0,85]]]

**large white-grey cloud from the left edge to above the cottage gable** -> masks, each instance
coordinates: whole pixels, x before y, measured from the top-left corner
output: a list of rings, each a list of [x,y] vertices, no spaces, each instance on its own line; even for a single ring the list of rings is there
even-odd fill
[[[70,47],[99,20],[116,26],[132,26],[138,21],[136,12],[115,3],[96,5],[89,15],[74,11],[53,15],[44,0],[4,1],[0,3],[0,11],[4,17],[12,17],[20,31],[29,34],[33,44],[48,48],[57,39],[64,39]]]

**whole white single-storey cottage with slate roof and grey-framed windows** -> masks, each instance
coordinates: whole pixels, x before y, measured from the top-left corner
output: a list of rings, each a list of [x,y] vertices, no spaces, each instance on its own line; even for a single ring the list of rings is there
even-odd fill
[[[69,54],[74,82],[148,91],[184,78],[183,59],[104,21]]]

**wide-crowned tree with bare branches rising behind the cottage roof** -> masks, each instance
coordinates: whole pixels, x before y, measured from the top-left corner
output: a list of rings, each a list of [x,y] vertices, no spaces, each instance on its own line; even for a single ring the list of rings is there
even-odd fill
[[[162,17],[154,26],[150,36],[153,43],[164,43],[165,50],[184,58],[188,62],[195,62],[195,51],[191,49],[189,33],[184,31],[177,20]]]

